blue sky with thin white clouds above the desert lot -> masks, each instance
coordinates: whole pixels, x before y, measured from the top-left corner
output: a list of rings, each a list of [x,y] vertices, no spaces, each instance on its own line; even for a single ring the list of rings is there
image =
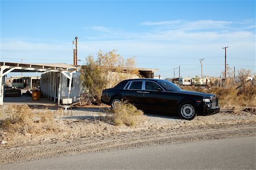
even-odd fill
[[[73,62],[116,49],[164,78],[255,73],[255,1],[1,1],[0,61]],[[176,70],[178,71],[178,70]],[[176,74],[177,75],[177,74]]]

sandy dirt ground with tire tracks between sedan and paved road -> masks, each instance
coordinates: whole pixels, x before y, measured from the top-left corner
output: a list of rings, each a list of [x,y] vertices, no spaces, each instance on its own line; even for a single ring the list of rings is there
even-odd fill
[[[34,110],[43,109],[35,106]],[[55,108],[50,108],[55,109]],[[77,108],[65,111],[55,121],[63,130],[44,134],[15,134],[0,145],[0,164],[76,155],[86,152],[120,150],[152,145],[166,145],[199,140],[255,136],[255,107],[239,112],[221,109],[210,116],[181,120],[167,114],[146,113],[145,121],[135,127],[114,126],[101,121],[104,107]],[[5,136],[5,131],[0,131]]]

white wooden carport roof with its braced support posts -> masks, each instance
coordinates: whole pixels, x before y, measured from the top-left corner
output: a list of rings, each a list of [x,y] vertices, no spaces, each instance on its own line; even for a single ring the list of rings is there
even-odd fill
[[[76,73],[77,67],[72,65],[67,65],[65,63],[46,63],[46,64],[31,64],[31,63],[14,63],[14,62],[0,62],[0,105],[3,105],[3,97],[4,97],[4,82],[6,74],[10,72],[40,72],[40,73],[61,73],[59,75],[64,75],[69,79],[68,84],[68,91],[67,94],[71,93],[71,85],[72,85],[72,77],[73,73]],[[56,84],[58,85],[62,83],[61,81],[62,76],[56,78],[55,76],[50,76],[49,81],[49,88],[47,89],[52,94],[56,94],[58,96],[58,103],[60,103],[60,88],[57,88]],[[58,86],[58,87],[59,87]],[[50,94],[50,93],[49,93]],[[54,100],[56,97],[52,95]]]

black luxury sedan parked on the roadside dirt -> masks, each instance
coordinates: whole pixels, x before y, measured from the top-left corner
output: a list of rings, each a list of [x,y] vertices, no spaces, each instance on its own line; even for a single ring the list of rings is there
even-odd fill
[[[220,112],[216,95],[181,90],[174,83],[160,79],[123,80],[114,88],[102,91],[102,103],[114,107],[122,100],[142,110],[178,112],[185,120]]]

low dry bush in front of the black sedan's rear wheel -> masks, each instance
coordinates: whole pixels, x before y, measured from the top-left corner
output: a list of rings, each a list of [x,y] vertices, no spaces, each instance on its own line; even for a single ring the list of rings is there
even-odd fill
[[[138,110],[133,104],[125,101],[123,103],[117,103],[110,110],[110,115],[106,116],[105,120],[116,126],[135,126],[139,122],[144,121],[144,116],[141,110]]]

